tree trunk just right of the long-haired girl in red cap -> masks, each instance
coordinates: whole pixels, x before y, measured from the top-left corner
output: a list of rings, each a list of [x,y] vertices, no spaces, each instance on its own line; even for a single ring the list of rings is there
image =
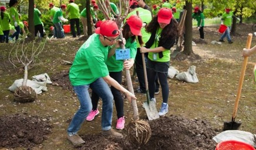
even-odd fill
[[[183,53],[190,55],[192,50],[192,2],[186,0],[187,15],[185,19],[185,41]]]

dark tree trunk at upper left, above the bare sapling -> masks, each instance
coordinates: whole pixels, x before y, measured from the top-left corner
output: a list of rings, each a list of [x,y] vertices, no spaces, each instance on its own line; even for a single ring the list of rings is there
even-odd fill
[[[33,39],[35,37],[35,25],[34,25],[34,1],[29,0],[29,37]]]

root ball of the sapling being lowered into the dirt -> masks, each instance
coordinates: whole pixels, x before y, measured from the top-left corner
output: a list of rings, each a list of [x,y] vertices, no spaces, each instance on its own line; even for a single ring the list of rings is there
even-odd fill
[[[146,144],[149,138],[151,138],[151,134],[150,125],[144,120],[132,120],[128,124],[128,137],[134,144]]]

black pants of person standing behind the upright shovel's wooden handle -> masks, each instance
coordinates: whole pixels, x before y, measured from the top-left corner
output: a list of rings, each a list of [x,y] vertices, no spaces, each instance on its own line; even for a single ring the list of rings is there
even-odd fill
[[[148,60],[148,57],[145,55],[145,61],[146,60]],[[135,71],[136,71],[136,75],[139,80],[139,88],[143,91],[146,91],[144,69],[143,69],[143,64],[142,64],[142,54],[141,54],[139,48],[137,48],[137,54],[135,57]],[[158,76],[155,79],[155,85],[156,85],[156,90],[159,89]]]

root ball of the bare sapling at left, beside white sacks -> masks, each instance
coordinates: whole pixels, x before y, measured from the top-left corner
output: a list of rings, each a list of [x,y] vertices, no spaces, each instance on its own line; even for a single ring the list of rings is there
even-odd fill
[[[19,86],[14,92],[15,102],[33,102],[36,100],[36,92],[29,86]]]

